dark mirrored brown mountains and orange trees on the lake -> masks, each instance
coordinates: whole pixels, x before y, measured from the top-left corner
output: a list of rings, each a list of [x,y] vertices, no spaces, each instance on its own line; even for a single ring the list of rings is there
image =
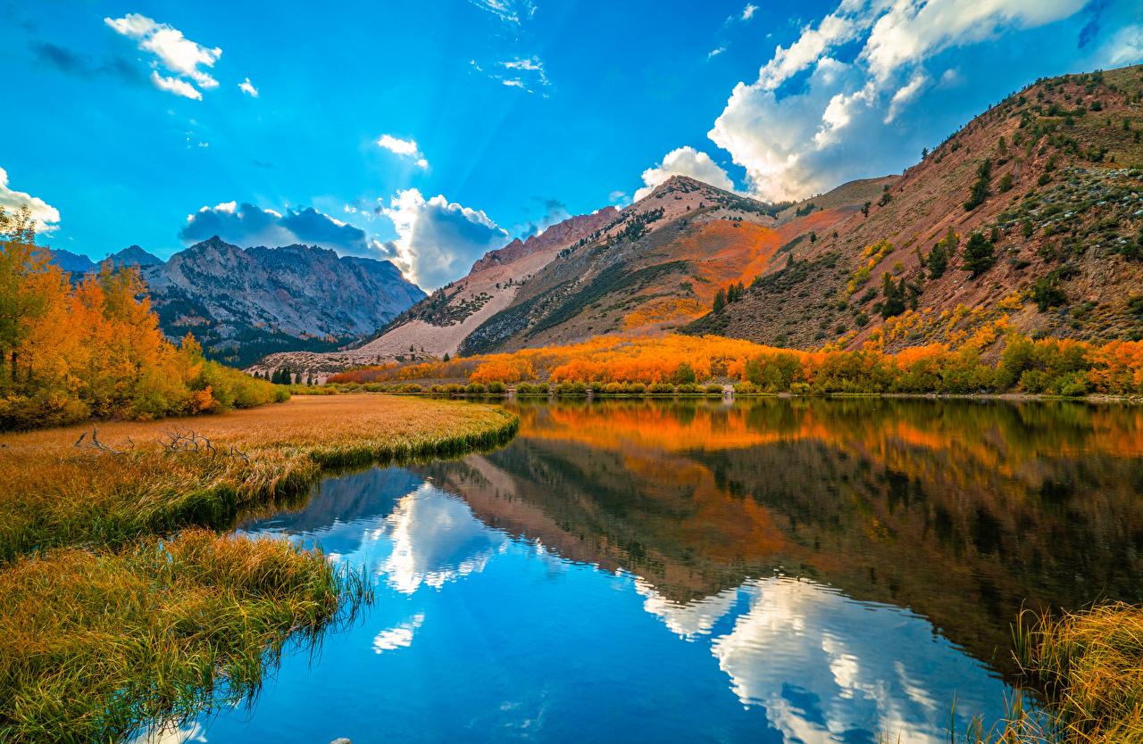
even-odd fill
[[[415,468],[489,526],[640,580],[704,632],[775,574],[910,608],[1013,671],[1022,605],[1143,600],[1143,413],[1081,404],[610,401]]]

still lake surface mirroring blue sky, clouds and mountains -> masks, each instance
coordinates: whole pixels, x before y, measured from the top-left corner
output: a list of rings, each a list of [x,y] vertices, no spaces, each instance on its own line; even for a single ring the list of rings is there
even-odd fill
[[[1020,607],[1143,601],[1143,411],[520,405],[509,446],[327,479],[240,532],[376,604],[183,738],[943,743]]]

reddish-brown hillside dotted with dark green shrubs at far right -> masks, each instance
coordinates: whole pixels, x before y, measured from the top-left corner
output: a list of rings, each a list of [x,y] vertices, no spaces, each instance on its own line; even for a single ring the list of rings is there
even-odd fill
[[[807,200],[815,211],[786,224],[796,242],[684,330],[804,349],[956,345],[1005,326],[1143,338],[1141,100],[1143,66],[1013,94],[884,183],[868,216],[823,227],[831,195]],[[932,253],[950,229],[942,272]]]

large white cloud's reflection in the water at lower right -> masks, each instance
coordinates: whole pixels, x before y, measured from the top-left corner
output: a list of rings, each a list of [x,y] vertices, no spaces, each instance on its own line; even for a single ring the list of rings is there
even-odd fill
[[[946,718],[940,705],[957,699],[960,710],[988,710],[1005,693],[908,610],[788,579],[749,582],[743,591],[749,609],[711,650],[738,699],[764,706],[789,741],[900,734],[903,742],[941,744],[948,731],[935,723]]]

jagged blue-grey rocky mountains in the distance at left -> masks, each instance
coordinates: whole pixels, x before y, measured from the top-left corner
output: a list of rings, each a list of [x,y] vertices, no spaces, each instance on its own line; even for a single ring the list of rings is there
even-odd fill
[[[73,275],[96,268],[69,251],[54,260]],[[191,331],[210,356],[239,366],[285,349],[336,349],[425,296],[390,261],[312,245],[242,249],[215,236],[168,261],[137,245],[105,260],[139,267],[168,337]]]

